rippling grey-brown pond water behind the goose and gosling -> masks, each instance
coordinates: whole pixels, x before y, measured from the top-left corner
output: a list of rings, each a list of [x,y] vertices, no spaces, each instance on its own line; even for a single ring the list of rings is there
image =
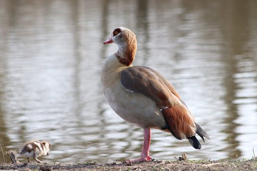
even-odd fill
[[[195,150],[153,130],[150,155],[251,158],[257,149],[256,8],[256,1],[239,0],[0,1],[3,150],[39,139],[52,144],[45,161],[140,156],[142,129],[116,115],[100,82],[104,60],[117,50],[102,42],[123,26],[137,35],[134,65],[170,80],[211,138]]]

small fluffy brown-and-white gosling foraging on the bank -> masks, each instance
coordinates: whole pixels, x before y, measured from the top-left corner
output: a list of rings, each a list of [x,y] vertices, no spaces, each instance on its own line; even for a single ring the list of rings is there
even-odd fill
[[[22,147],[19,156],[20,155],[26,156],[29,163],[30,163],[30,160],[29,160],[30,157],[33,157],[36,161],[38,161],[38,163],[41,163],[41,161],[37,159],[37,157],[45,156],[45,155],[49,156],[50,148],[51,148],[51,145],[47,141],[42,141],[42,142],[38,140],[29,141],[25,143],[25,145]]]

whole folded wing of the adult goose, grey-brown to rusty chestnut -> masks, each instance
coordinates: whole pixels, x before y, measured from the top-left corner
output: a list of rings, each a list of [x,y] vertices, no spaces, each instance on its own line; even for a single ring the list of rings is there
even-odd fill
[[[168,129],[177,139],[196,134],[196,124],[189,109],[168,80],[152,68],[133,66],[121,71],[121,84],[128,90],[143,93],[162,109]]]

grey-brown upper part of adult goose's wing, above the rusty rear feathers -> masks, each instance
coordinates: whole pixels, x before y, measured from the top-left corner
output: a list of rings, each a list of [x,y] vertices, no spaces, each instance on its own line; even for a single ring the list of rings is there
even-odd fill
[[[174,105],[171,91],[156,72],[147,67],[129,67],[121,72],[121,84],[130,91],[143,93],[160,108],[171,107]]]

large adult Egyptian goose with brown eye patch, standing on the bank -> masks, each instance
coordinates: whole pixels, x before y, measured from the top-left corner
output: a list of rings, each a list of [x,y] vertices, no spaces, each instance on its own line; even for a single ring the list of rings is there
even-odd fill
[[[196,139],[209,139],[196,123],[186,104],[168,80],[156,70],[132,66],[137,51],[136,35],[124,27],[116,28],[103,44],[116,43],[118,51],[103,64],[101,81],[106,100],[126,122],[143,128],[141,157],[131,162],[150,161],[151,128],[171,132],[178,140],[187,139],[195,149]]]

